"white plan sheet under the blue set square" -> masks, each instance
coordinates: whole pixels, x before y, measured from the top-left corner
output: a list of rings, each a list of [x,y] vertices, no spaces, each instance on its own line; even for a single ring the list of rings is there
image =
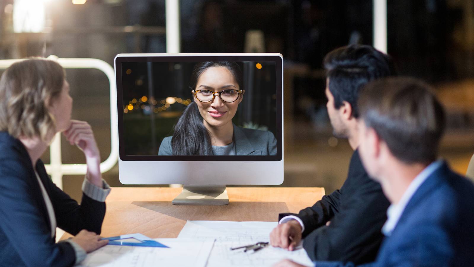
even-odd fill
[[[80,267],[205,267],[213,239],[153,239],[170,248],[106,245],[87,257]]]

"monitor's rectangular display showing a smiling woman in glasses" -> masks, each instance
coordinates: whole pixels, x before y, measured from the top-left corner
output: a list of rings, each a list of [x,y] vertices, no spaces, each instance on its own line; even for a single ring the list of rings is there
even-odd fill
[[[206,59],[156,56],[118,63],[121,157],[245,160],[281,154],[277,62]]]

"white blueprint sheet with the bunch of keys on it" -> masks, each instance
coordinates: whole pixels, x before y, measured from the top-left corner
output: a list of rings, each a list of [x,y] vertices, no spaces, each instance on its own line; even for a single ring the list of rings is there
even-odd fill
[[[270,232],[278,222],[267,221],[187,221],[178,238],[215,238],[207,267],[256,267],[272,266],[289,258],[306,266],[314,266],[304,249],[288,251],[271,246],[253,252],[230,248],[256,242],[268,242]]]

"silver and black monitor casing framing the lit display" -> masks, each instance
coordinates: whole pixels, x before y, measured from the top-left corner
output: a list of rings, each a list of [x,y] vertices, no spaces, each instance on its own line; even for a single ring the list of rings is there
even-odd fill
[[[124,61],[275,61],[277,74],[277,155],[275,156],[129,156],[124,151],[123,103],[120,63]],[[203,58],[202,60],[199,60]],[[278,53],[236,53],[236,54],[119,54],[114,59],[117,80],[119,177],[122,184],[281,184],[283,183],[283,56]],[[279,74],[279,75],[278,75]],[[280,81],[281,75],[281,83]],[[227,170],[217,178],[218,169]],[[209,163],[209,164],[206,164]],[[137,180],[137,169],[141,177]],[[153,170],[163,170],[165,176],[146,175]],[[213,171],[209,171],[209,169]],[[173,171],[170,171],[173,170]],[[262,170],[264,170],[262,172]],[[256,173],[261,175],[257,178]],[[229,175],[232,173],[240,173]],[[263,174],[262,174],[263,173]],[[199,175],[197,175],[199,174]],[[209,176],[210,175],[210,176]],[[242,179],[246,176],[249,179]]]

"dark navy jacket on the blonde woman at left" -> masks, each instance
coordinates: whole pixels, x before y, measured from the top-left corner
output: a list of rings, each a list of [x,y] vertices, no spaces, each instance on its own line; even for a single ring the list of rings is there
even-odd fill
[[[72,266],[73,247],[51,238],[46,204],[26,148],[0,132],[0,151],[0,265]],[[36,171],[53,204],[57,227],[73,235],[82,229],[100,234],[105,203],[83,194],[79,205],[53,184],[41,160]]]

